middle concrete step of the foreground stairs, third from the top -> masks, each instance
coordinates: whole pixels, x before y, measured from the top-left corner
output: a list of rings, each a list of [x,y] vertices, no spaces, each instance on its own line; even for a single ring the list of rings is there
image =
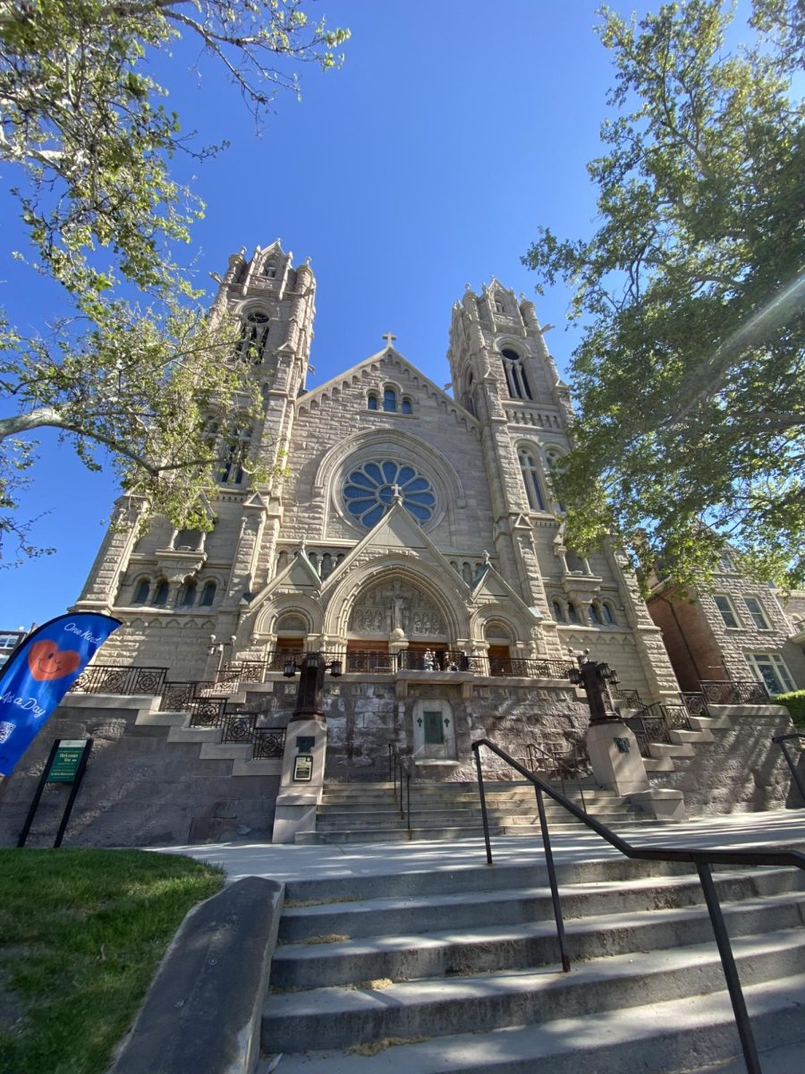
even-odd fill
[[[805,892],[766,896],[726,904],[730,935],[794,929],[802,924]],[[496,918],[495,918],[496,919]],[[672,910],[587,915],[566,923],[571,961],[707,943],[713,926],[701,905]],[[552,966],[558,962],[553,920],[486,926],[457,933],[370,937],[363,943],[284,944],[272,963],[272,989],[309,989],[355,981],[410,981],[466,976],[497,970]]]

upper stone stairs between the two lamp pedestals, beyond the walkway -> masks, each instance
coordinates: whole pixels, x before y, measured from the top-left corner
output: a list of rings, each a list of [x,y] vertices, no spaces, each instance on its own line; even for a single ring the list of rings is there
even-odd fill
[[[526,781],[484,783],[489,829],[497,836],[539,836],[533,786]],[[620,828],[648,819],[614,790],[589,778],[568,783],[568,797],[604,824]],[[579,821],[545,797],[551,828],[576,828]],[[653,821],[653,823],[657,823]],[[316,831],[297,843],[372,843],[399,839],[471,839],[483,836],[477,783],[411,782],[411,829],[400,816],[392,783],[327,783],[317,811]]]

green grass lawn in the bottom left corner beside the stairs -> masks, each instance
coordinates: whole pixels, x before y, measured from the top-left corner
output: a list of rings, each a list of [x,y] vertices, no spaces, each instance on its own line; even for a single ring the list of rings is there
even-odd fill
[[[185,914],[222,884],[170,854],[0,848],[0,1074],[103,1074]]]

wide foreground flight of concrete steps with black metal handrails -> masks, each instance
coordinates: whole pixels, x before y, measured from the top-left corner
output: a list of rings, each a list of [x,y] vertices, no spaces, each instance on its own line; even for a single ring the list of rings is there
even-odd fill
[[[743,1070],[696,872],[559,861],[571,971],[533,865],[288,884],[259,1074]],[[714,873],[758,1046],[805,1062],[805,874]],[[277,1057],[280,1056],[279,1061]],[[720,1069],[720,1066],[719,1066]]]

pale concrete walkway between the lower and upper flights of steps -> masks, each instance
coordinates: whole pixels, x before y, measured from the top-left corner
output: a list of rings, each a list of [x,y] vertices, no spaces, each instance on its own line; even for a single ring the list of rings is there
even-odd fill
[[[674,825],[625,828],[633,846],[708,846],[737,850],[763,844],[805,852],[805,810],[734,813]],[[618,855],[589,831],[557,831],[551,837],[558,862],[594,861]],[[455,870],[486,861],[482,839],[440,840],[352,845],[294,846],[274,843],[207,843],[192,846],[149,846],[167,854],[187,854],[222,866],[229,881],[266,876],[290,881],[335,876],[386,876],[410,871]],[[542,862],[542,841],[529,837],[493,837],[496,865]]]

